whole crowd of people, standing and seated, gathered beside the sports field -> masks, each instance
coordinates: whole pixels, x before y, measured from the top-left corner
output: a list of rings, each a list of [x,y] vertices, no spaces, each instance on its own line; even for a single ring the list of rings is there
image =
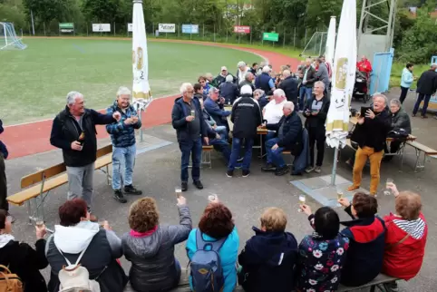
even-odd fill
[[[360,66],[368,67],[365,60]],[[413,65],[407,64],[406,69],[411,73]],[[433,70],[434,67],[420,80],[434,78]],[[239,62],[235,75],[221,67],[216,77],[206,73],[198,83],[183,83],[181,96],[171,112],[181,151],[181,190],[189,187],[190,157],[193,184],[203,189],[203,145],[212,145],[223,155],[229,178],[235,177],[238,169],[243,177],[250,175],[252,148],[256,144],[266,153],[263,171],[277,176],[288,171],[294,175],[321,172],[330,77],[331,66],[321,56],[302,62],[296,73],[289,65],[282,66],[280,73],[273,73],[267,63],[248,67]],[[121,238],[107,221],[102,223],[102,229],[96,223],[97,217],[92,213],[96,124],[105,124],[112,138],[113,198],[126,203],[125,195],[142,194],[133,185],[135,129],[141,128],[141,120],[130,100],[131,91],[120,87],[115,102],[103,114],[85,109],[82,93],[67,94],[65,109],[53,120],[50,142],[63,151],[68,200],[59,208],[60,224],[55,226],[53,235],[45,240],[45,227],[36,227],[35,249],[19,243],[11,234],[14,218],[5,200],[4,160],[8,152],[0,141],[0,192],[4,194],[0,196],[0,265],[20,277],[24,291],[59,291],[72,283],[79,285],[81,276],[82,285],[97,285],[103,292],[122,291],[128,281],[136,291],[168,291],[180,281],[180,262],[174,257],[174,246],[184,241],[193,291],[214,286],[228,292],[238,283],[246,291],[335,291],[339,283],[358,287],[380,272],[405,280],[419,272],[427,235],[420,196],[410,191],[399,193],[392,185],[396,213],[384,219],[376,215],[375,197],[384,152],[395,153],[401,145],[400,141],[393,141],[389,147],[386,139],[391,132],[411,133],[409,116],[402,108],[404,96],[389,103],[383,94],[374,94],[371,109],[357,118],[351,136],[357,145],[354,183],[347,190],[354,192],[361,186],[367,160],[371,165],[371,186],[370,195],[358,192],[352,202],[339,200],[352,220],[340,222],[335,210],[327,207],[313,215],[308,206],[302,205],[315,232],[298,245],[293,234],[286,232],[284,211],[266,209],[259,226],[254,227],[255,236],[248,239],[239,255],[238,230],[232,213],[217,198],[204,210],[198,229],[192,229],[189,208],[182,196],[178,197],[180,225],[160,225],[157,204],[151,198],[141,198],[131,205],[131,230]],[[258,139],[260,129],[264,134]],[[284,151],[295,156],[291,169],[284,161]],[[386,155],[384,160],[391,157]],[[340,231],[340,224],[345,229]],[[118,260],[122,256],[131,262],[129,276]],[[51,274],[46,286],[39,269],[48,266]],[[387,288],[395,291],[395,283]]]

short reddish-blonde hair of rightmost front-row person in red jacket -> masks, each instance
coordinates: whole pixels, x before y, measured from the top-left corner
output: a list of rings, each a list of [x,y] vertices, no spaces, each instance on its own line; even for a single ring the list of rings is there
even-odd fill
[[[403,219],[418,219],[422,210],[421,196],[410,190],[401,191],[394,200],[394,206],[396,213]]]

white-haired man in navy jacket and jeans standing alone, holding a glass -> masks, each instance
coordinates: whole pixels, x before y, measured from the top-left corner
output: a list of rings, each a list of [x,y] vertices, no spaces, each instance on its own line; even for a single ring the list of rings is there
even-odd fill
[[[182,83],[180,93],[182,96],[175,100],[171,111],[171,124],[176,130],[180,151],[182,152],[180,163],[181,189],[182,191],[188,190],[189,156],[192,153],[191,178],[196,188],[201,190],[203,189],[200,182],[201,139],[203,138],[208,145],[209,138],[200,103],[193,98],[193,86],[190,83]]]

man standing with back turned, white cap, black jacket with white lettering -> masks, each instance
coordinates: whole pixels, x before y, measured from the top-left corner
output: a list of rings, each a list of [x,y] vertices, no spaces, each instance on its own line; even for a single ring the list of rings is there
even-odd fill
[[[230,121],[234,123],[234,129],[232,131],[232,152],[226,172],[228,178],[232,178],[234,175],[243,141],[246,151],[242,163],[243,177],[246,178],[250,174],[254,137],[257,136],[257,127],[262,122],[257,100],[252,98],[252,88],[244,85],[241,87],[240,93],[241,97],[234,102],[230,116]]]

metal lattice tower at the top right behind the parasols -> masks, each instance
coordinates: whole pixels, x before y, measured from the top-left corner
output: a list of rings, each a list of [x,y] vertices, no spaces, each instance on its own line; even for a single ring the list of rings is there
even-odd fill
[[[374,15],[370,12],[371,8],[376,5],[387,5],[389,8],[388,19],[381,18],[377,15]],[[385,51],[389,51],[393,46],[393,34],[394,34],[394,23],[395,23],[395,15],[396,15],[396,6],[397,0],[363,0],[363,8],[361,9],[361,17],[360,24],[358,27],[358,47],[360,47],[360,41],[362,39],[363,34],[373,34],[374,32],[378,32],[381,35],[380,31],[383,31],[382,35],[386,36],[386,47]],[[369,27],[369,19],[377,19],[382,24],[381,26]]]

